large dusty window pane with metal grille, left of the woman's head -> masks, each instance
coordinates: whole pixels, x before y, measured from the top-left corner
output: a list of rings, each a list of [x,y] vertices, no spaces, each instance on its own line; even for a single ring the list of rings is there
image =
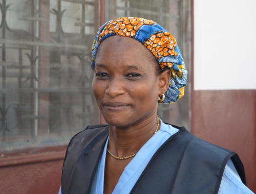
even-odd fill
[[[66,144],[98,123],[94,1],[0,3],[0,151]]]

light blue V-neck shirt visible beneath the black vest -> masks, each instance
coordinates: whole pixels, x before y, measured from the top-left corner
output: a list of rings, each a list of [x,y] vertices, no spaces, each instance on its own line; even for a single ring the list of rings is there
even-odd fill
[[[113,191],[113,194],[128,194],[131,192],[133,186],[139,179],[140,175],[144,171],[148,162],[150,162],[156,151],[162,146],[162,144],[173,134],[179,130],[162,123],[161,127],[156,134],[152,136],[144,146],[139,150],[131,162],[124,168],[124,171],[119,178],[117,185]],[[98,168],[93,178],[91,194],[103,193],[104,185],[104,168],[106,149],[108,147],[109,138],[107,139],[102,156],[99,160]],[[61,190],[61,187],[60,187]],[[59,190],[59,194],[61,191]],[[231,159],[228,160],[224,174],[222,177],[219,194],[236,193],[236,194],[251,194],[251,192],[241,181],[236,168],[234,167]]]

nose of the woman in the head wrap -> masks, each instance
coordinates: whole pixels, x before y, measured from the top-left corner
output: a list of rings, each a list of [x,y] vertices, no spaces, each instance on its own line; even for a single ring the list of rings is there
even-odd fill
[[[108,94],[111,98],[115,98],[117,95],[122,95],[125,93],[123,81],[120,79],[112,79],[108,84],[108,88],[105,90],[105,93]]]

